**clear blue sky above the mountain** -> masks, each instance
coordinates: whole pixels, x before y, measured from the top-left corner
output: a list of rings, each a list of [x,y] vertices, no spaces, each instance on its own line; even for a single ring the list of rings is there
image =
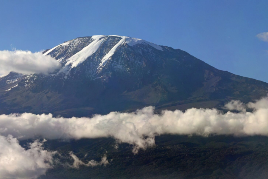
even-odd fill
[[[81,36],[122,35],[268,82],[268,42],[256,37],[263,32],[267,0],[0,0],[0,50],[35,52]]]

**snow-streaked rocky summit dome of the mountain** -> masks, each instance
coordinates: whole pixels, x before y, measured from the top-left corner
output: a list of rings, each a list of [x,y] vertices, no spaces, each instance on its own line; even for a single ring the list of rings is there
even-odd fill
[[[62,64],[63,67],[58,74],[65,73],[67,75],[73,68],[77,68],[90,58],[94,58],[94,60],[91,61],[93,62],[91,63],[91,68],[95,69],[95,72],[98,73],[112,58],[113,54],[125,44],[133,48],[140,44],[147,46],[147,48],[153,47],[156,50],[163,51],[161,46],[139,38],[118,35],[98,35],[66,41],[50,50],[46,50],[43,55],[51,55]]]

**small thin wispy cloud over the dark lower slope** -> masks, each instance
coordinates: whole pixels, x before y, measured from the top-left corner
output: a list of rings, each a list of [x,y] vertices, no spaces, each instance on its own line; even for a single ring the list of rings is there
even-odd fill
[[[74,163],[72,165],[69,165],[72,168],[79,169],[80,166],[92,166],[93,167],[93,166],[98,166],[98,165],[106,166],[107,164],[109,164],[106,155],[102,157],[102,160],[100,162],[91,160],[91,161],[88,161],[88,163],[84,163],[76,155],[74,155],[73,152],[70,152],[69,154],[70,154],[70,157],[74,160]]]

